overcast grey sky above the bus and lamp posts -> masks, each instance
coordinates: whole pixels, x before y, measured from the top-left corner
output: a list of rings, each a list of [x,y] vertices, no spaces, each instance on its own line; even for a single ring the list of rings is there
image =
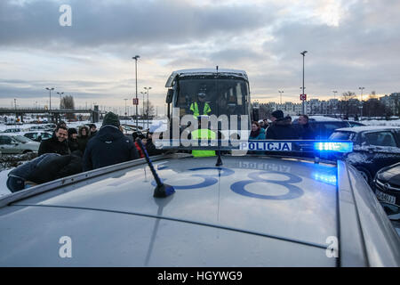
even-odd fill
[[[299,102],[304,50],[308,99],[400,92],[400,1],[1,0],[0,106],[44,106],[51,86],[52,105],[64,92],[76,106],[123,107],[136,54],[139,94],[151,86],[159,113],[173,70],[216,65],[246,70],[253,100],[283,90]]]

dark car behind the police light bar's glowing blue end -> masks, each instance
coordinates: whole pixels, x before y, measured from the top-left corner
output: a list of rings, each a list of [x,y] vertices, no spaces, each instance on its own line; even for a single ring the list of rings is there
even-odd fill
[[[316,140],[326,140],[336,129],[340,127],[350,127],[348,121],[321,116],[309,117],[308,124],[313,129],[314,134],[316,134]],[[299,126],[298,118],[292,121],[292,125],[295,127]]]

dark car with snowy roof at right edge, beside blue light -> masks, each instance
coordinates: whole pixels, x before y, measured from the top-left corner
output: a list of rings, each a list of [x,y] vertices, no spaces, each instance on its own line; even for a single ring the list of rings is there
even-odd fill
[[[356,167],[368,183],[383,167],[400,162],[400,127],[354,126],[337,129],[330,140],[354,142],[346,160]]]

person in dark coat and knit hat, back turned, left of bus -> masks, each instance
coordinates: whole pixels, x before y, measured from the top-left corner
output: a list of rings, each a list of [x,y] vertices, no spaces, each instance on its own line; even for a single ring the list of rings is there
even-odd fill
[[[132,140],[123,134],[120,126],[118,116],[108,112],[99,133],[87,143],[84,171],[139,158]]]

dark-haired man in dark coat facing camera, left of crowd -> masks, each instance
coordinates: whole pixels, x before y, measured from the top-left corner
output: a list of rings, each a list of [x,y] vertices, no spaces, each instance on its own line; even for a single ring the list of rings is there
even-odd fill
[[[60,155],[69,154],[67,137],[67,128],[57,126],[52,134],[52,138],[40,142],[38,155],[41,156],[44,153],[58,153]]]

